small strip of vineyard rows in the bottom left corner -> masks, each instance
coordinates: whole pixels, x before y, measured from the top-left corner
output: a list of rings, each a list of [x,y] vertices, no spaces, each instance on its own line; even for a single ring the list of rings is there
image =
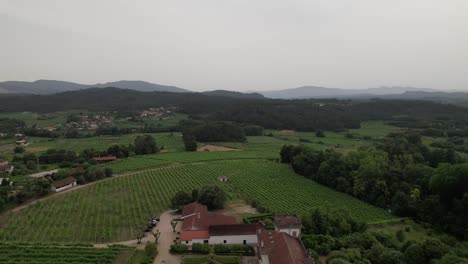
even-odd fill
[[[0,263],[112,264],[125,249],[92,246],[0,244]]]

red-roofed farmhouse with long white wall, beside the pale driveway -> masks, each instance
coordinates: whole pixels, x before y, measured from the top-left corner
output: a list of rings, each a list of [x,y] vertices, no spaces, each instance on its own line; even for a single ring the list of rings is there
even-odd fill
[[[180,240],[183,244],[256,244],[257,224],[237,224],[232,216],[209,212],[199,203],[184,206]]]

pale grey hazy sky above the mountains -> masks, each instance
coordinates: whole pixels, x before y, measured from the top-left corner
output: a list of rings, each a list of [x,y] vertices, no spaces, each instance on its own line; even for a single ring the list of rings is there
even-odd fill
[[[0,81],[468,90],[467,0],[0,0]]]

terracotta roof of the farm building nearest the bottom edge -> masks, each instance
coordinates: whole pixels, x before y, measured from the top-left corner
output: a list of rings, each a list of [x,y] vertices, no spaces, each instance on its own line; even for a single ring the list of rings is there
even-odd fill
[[[267,255],[270,264],[314,264],[301,241],[286,233],[261,230],[258,243],[260,256]]]

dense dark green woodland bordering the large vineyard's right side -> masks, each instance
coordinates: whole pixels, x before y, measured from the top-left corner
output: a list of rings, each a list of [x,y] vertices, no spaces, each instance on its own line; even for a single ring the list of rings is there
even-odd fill
[[[280,156],[307,178],[468,239],[468,164],[453,150],[424,146],[417,133],[347,155],[285,145]]]

